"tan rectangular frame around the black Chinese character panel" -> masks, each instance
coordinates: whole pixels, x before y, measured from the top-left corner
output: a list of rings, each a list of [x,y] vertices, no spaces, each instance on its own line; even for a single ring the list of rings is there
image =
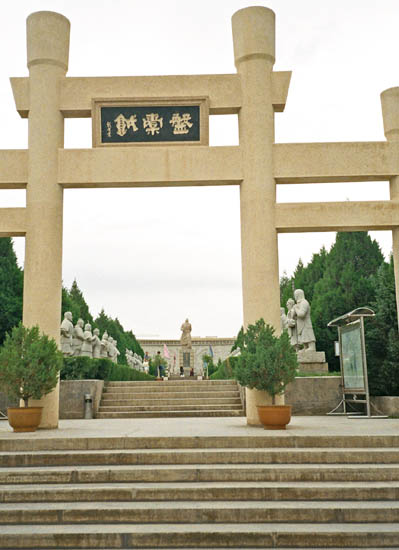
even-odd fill
[[[199,106],[200,139],[196,141],[156,141],[104,143],[101,138],[101,107],[151,107],[175,105]],[[151,97],[151,98],[93,98],[92,100],[92,143],[93,147],[159,147],[209,145],[209,97]]]

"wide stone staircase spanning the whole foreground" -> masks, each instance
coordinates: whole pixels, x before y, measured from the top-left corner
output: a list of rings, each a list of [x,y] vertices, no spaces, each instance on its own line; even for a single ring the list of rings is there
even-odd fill
[[[399,436],[0,440],[0,548],[399,548]]]

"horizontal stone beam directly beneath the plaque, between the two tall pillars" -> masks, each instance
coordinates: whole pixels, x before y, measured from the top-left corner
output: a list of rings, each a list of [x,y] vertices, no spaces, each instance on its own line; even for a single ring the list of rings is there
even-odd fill
[[[99,147],[59,149],[65,188],[239,185],[239,147]]]

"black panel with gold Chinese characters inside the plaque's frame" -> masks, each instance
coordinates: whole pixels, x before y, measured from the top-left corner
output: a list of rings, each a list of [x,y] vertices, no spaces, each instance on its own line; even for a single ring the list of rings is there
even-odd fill
[[[101,107],[102,143],[200,141],[199,105]]]

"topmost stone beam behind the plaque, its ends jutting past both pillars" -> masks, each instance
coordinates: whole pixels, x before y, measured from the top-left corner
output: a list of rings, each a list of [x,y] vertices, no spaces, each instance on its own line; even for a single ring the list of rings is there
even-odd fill
[[[273,105],[283,111],[291,72],[273,73]],[[21,117],[29,115],[29,78],[11,78],[15,105]],[[237,74],[67,77],[60,88],[60,110],[65,118],[91,116],[92,99],[209,97],[210,114],[235,114],[241,107]]]

